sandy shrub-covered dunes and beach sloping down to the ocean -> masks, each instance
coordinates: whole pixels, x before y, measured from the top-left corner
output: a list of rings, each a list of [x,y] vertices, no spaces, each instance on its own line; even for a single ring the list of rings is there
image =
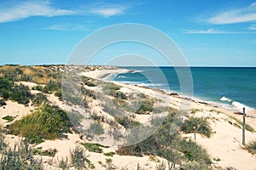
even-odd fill
[[[246,117],[242,145],[241,115],[104,78],[127,71],[100,65],[0,66],[0,167],[256,169],[255,118]],[[189,110],[179,111],[181,105]]]

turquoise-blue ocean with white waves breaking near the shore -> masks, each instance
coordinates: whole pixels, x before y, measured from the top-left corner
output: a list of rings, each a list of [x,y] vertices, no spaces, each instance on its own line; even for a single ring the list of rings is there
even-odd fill
[[[131,72],[111,77],[113,81],[160,88],[180,94],[180,83],[173,67],[124,67]],[[180,72],[183,67],[177,68]],[[191,67],[192,99],[241,111],[256,109],[256,68]],[[150,77],[148,77],[150,75]],[[109,78],[109,77],[108,77]],[[186,95],[186,94],[184,94]]]

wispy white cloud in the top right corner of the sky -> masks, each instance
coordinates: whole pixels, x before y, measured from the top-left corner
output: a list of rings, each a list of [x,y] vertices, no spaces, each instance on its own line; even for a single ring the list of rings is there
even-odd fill
[[[213,25],[235,24],[256,20],[256,3],[244,8],[233,8],[219,12],[206,21]]]

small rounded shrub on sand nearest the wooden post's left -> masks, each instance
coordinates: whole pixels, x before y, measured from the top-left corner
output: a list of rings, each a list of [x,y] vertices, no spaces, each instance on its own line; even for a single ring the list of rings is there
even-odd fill
[[[181,131],[184,133],[201,133],[207,138],[210,138],[212,128],[206,118],[190,117],[189,120],[183,123]]]

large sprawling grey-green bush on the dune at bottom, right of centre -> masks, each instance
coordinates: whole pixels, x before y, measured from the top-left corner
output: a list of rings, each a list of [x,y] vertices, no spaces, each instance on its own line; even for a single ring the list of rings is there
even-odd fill
[[[161,156],[172,162],[174,167],[175,164],[180,164],[182,161],[196,161],[209,167],[212,161],[206,150],[191,140],[181,138],[178,133],[170,133],[173,120],[172,115],[166,116],[166,121],[156,133],[138,144],[119,147],[117,154]]]

